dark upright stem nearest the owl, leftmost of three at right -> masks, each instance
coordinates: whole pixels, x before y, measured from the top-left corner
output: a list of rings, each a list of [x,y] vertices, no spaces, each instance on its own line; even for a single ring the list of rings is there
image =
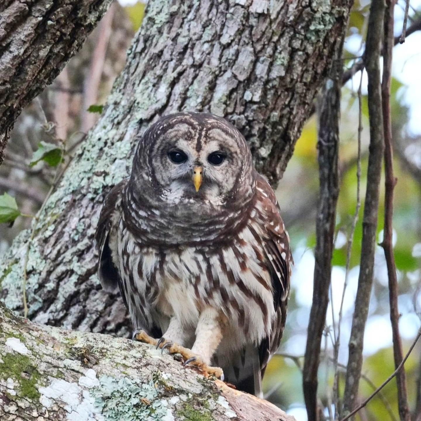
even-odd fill
[[[337,57],[341,56],[342,44],[337,51]],[[332,77],[326,81],[320,100],[317,142],[320,197],[316,220],[317,240],[314,250],[313,302],[307,329],[303,370],[304,400],[309,421],[317,420],[317,370],[320,362],[320,344],[329,304],[336,202],[339,192],[338,145],[341,71],[341,63],[335,61],[332,67]]]

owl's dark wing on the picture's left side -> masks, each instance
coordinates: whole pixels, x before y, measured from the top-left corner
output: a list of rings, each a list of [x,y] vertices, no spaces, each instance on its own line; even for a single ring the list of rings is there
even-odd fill
[[[119,287],[127,307],[124,288],[117,270],[117,228],[120,221],[123,187],[126,183],[127,180],[120,181],[105,197],[99,214],[95,240],[99,250],[98,277],[102,288],[114,292]]]

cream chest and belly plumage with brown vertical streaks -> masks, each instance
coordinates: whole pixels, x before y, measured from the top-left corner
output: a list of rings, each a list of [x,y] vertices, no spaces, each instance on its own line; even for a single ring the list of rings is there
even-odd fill
[[[219,312],[223,336],[230,339],[220,344],[221,353],[241,349],[245,343],[259,344],[269,335],[275,314],[271,274],[260,240],[265,236],[264,211],[257,200],[246,220],[238,222],[240,229],[226,234],[224,241],[161,242],[160,247],[131,232],[123,214],[118,261],[133,324],[164,332],[176,316],[193,340],[200,313],[210,306]],[[156,226],[155,235],[159,235]]]

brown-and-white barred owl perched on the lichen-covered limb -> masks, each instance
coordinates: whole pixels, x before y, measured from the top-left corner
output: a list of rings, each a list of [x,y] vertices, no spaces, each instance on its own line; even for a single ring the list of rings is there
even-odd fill
[[[99,279],[136,332],[179,344],[259,394],[285,326],[293,258],[280,208],[242,134],[220,117],[162,117],[96,230]]]

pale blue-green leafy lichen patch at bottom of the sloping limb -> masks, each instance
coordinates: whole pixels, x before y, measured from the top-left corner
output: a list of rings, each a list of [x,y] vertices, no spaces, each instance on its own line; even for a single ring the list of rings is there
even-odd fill
[[[106,421],[152,421],[168,415],[168,402],[159,397],[152,381],[140,383],[127,377],[101,376],[99,386],[89,393]]]

